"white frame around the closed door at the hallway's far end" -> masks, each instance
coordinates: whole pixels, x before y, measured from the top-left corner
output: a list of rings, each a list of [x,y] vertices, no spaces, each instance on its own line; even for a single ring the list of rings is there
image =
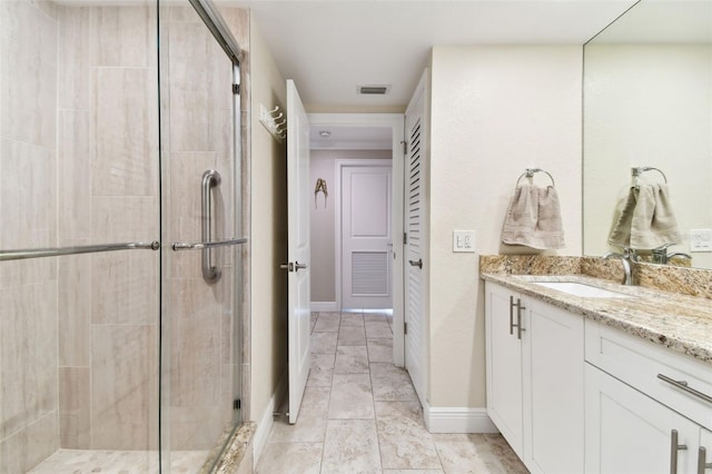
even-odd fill
[[[344,278],[343,278],[343,267],[342,267],[342,259],[344,258],[344,226],[342,223],[342,218],[344,217],[342,215],[342,188],[344,186],[344,184],[342,182],[342,172],[344,171],[344,168],[348,168],[348,167],[363,167],[363,166],[378,166],[378,167],[389,167],[390,168],[390,174],[393,175],[393,160],[392,159],[337,159],[336,164],[335,164],[335,172],[336,172],[336,192],[335,192],[335,198],[334,198],[334,205],[335,210],[334,210],[334,238],[336,239],[336,246],[335,246],[335,250],[336,250],[336,257],[334,258],[334,263],[335,263],[335,269],[334,269],[334,276],[336,277],[336,306],[338,308],[343,307],[343,289],[344,289]],[[390,184],[393,186],[393,177],[390,179]],[[390,199],[393,200],[393,196],[390,197]],[[393,207],[393,206],[392,206]],[[393,209],[392,209],[393,210]],[[390,219],[393,220],[393,215],[390,217]],[[393,233],[393,224],[390,225],[390,231]],[[392,240],[395,240],[396,237],[392,235]],[[394,243],[395,245],[395,243]],[[394,261],[392,261],[392,268],[390,268],[390,274],[393,275],[394,271],[396,271],[397,269],[395,268],[395,264],[396,260],[394,259]],[[395,276],[392,277],[392,280],[395,278]],[[390,282],[390,285],[393,285],[393,282]],[[393,290],[393,286],[390,288],[390,295],[392,295],[392,300],[395,298],[395,292]],[[393,303],[392,303],[393,304]]]

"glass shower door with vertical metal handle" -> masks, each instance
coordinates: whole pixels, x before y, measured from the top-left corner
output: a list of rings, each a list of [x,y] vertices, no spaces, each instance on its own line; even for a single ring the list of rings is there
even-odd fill
[[[197,472],[239,422],[244,240],[234,65],[190,3],[160,8],[161,442],[165,466]]]

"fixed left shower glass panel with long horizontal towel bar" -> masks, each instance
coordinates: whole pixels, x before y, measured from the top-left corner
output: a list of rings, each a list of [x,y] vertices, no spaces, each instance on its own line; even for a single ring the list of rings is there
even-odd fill
[[[0,1],[1,473],[158,468],[156,51],[155,2]]]

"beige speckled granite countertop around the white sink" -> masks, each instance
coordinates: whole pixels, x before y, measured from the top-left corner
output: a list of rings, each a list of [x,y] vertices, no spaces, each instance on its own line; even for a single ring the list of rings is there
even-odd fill
[[[584,275],[482,273],[481,277],[712,365],[712,302],[708,298],[623,286]],[[536,285],[536,282],[576,282],[629,297],[572,296]]]

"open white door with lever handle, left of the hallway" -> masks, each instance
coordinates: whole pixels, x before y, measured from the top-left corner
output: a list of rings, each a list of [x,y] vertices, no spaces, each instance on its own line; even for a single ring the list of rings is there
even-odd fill
[[[309,375],[309,120],[287,80],[287,209],[289,279],[289,423],[299,414]]]

